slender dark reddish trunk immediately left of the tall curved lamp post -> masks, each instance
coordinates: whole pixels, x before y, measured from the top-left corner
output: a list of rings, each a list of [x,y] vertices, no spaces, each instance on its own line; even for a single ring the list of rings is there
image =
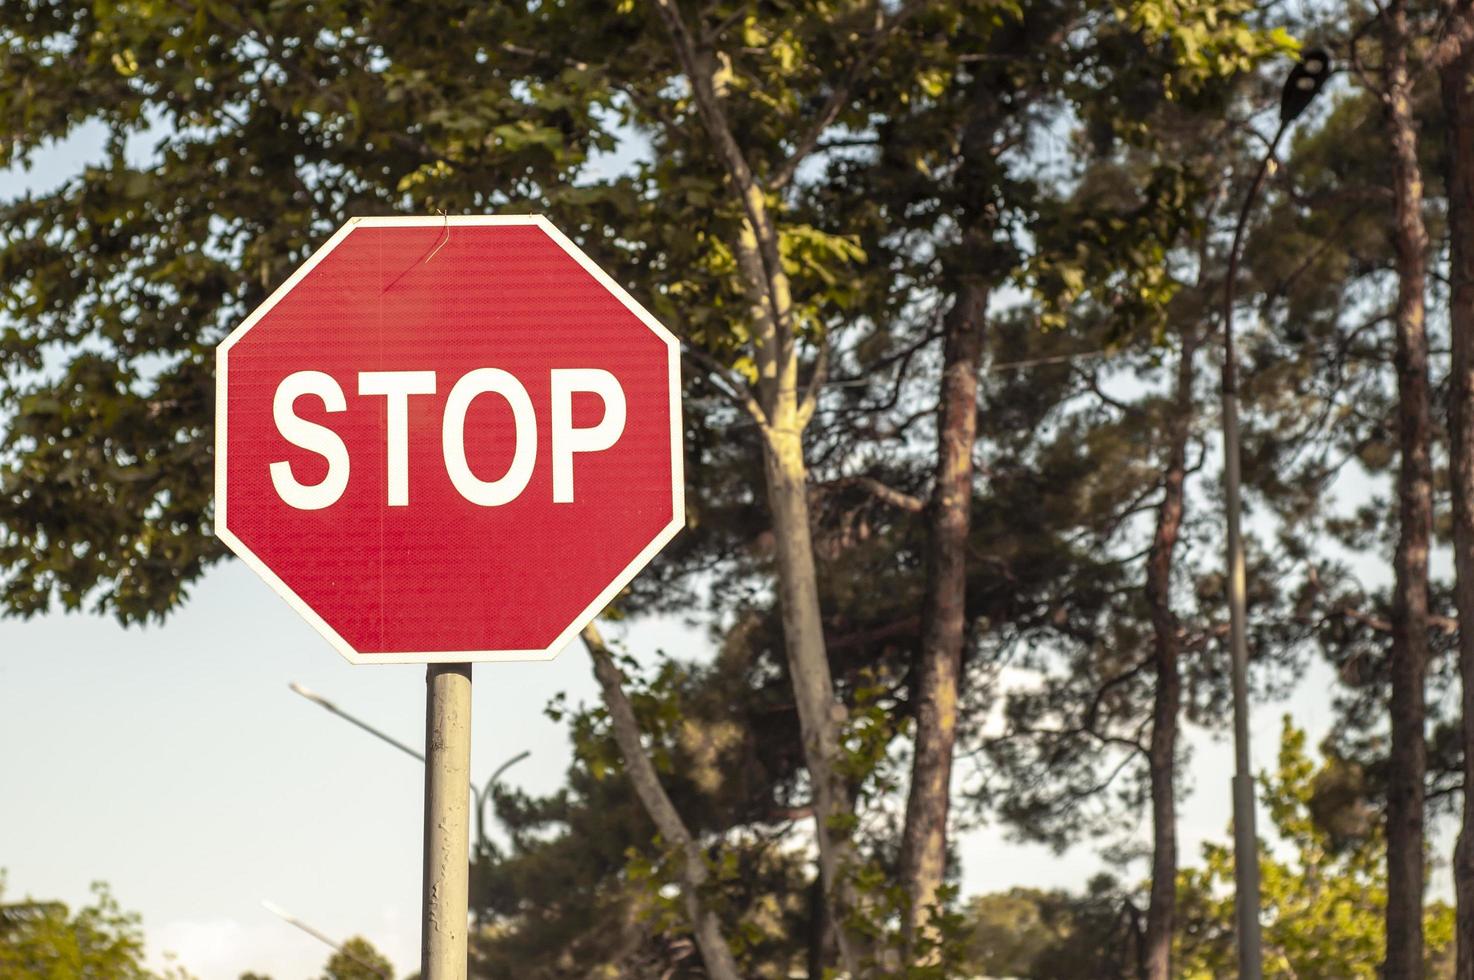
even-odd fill
[[[1184,483],[1192,419],[1192,355],[1197,340],[1184,335],[1178,383],[1169,420],[1167,458],[1162,475],[1157,529],[1147,553],[1147,607],[1151,613],[1156,691],[1151,706],[1151,899],[1147,906],[1145,974],[1172,979],[1172,931],[1178,909],[1176,755],[1182,675],[1181,637],[1172,612],[1172,559],[1182,533]]]

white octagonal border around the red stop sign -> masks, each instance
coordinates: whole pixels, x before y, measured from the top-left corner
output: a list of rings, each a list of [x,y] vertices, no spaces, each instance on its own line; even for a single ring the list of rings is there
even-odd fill
[[[227,526],[228,494],[226,488],[226,420],[228,419],[228,354],[240,337],[261,321],[271,308],[286,298],[292,289],[307,277],[312,268],[327,255],[342,245],[355,228],[380,227],[447,227],[447,225],[535,225],[542,230],[559,248],[578,262],[590,276],[607,289],[625,309],[632,312],[640,323],[650,329],[666,345],[671,383],[671,522],[644,547],[634,560],[621,570],[613,581],[601,591],[594,601],[581,612],[569,626],[557,635],[544,650],[447,650],[429,653],[360,653],[336,629],[308,606],[292,587],[282,581],[265,561],[262,561],[246,544],[237,538]],[[631,296],[625,289],[598,268],[582,249],[559,231],[551,221],[542,215],[413,215],[413,217],[376,217],[349,218],[333,237],[323,243],[311,258],[292,273],[292,276],[277,287],[271,296],[256,307],[240,326],[230,332],[215,348],[215,536],[226,542],[246,566],[259,575],[271,589],[284,598],[317,632],[333,644],[338,653],[352,663],[494,663],[507,660],[551,660],[573,641],[578,632],[591,623],[603,609],[613,601],[646,564],[663,548],[671,538],[685,526],[685,466],[681,454],[681,343],[665,326],[656,320],[649,309]]]

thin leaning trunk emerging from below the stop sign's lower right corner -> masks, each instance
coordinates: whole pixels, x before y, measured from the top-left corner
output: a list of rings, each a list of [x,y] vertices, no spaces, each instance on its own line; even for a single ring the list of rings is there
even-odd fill
[[[635,721],[635,712],[629,706],[629,699],[625,697],[624,678],[609,653],[609,647],[604,645],[604,640],[593,623],[584,626],[582,637],[584,645],[588,647],[588,656],[594,660],[594,676],[598,678],[598,687],[604,693],[604,707],[609,709],[615,741],[625,760],[625,774],[635,787],[635,796],[640,797],[640,803],[650,815],[656,830],[660,831],[668,844],[681,849],[681,900],[685,905],[687,923],[696,936],[696,948],[702,952],[702,962],[706,964],[706,973],[712,980],[738,980],[741,974],[731,948],[722,936],[721,921],[702,900],[702,889],[710,877],[706,869],[706,855],[702,853],[700,844],[691,837],[691,831],[687,830],[675,805],[671,803],[650,756],[646,755],[640,740],[640,722]]]

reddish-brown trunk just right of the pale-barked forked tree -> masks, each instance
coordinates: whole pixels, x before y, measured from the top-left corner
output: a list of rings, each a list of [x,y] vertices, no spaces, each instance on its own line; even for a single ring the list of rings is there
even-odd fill
[[[967,538],[973,507],[973,444],[977,441],[977,370],[986,305],[988,289],[976,280],[965,280],[943,324],[924,626],[912,687],[915,753],[901,841],[901,883],[908,899],[904,931],[907,955],[912,959],[918,930],[927,930],[926,923],[946,872],[946,813],[967,631]]]

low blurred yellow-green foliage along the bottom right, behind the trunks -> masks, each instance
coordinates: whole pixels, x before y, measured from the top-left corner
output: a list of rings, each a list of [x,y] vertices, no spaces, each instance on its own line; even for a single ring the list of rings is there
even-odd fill
[[[1368,819],[1344,760],[1316,763],[1290,718],[1274,772],[1260,778],[1272,839],[1262,841],[1265,977],[1368,980],[1380,976],[1387,902],[1386,844]],[[1178,877],[1175,976],[1212,980],[1235,973],[1234,859],[1226,844],[1203,847],[1203,864]],[[1029,980],[1111,980],[1138,976],[1144,893],[1101,877],[1085,892],[1013,889],[964,908],[968,964],[982,976]],[[1428,977],[1453,976],[1453,909],[1427,906]]]

